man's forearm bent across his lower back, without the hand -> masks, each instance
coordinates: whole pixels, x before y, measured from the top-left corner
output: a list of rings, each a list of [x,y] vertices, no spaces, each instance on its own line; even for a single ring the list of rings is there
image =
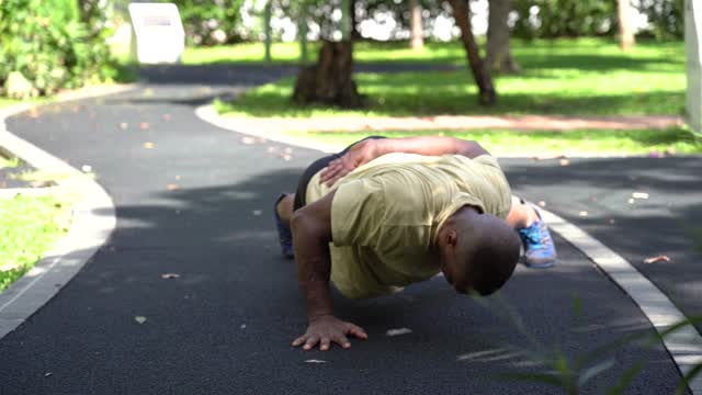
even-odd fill
[[[419,136],[407,138],[375,139],[375,157],[392,153],[419,154],[428,156],[463,155],[475,158],[488,154],[479,144],[443,136]]]

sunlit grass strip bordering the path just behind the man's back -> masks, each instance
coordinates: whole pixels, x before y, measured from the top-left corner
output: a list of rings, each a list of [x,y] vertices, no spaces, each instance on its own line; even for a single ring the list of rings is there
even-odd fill
[[[702,154],[702,138],[684,128],[665,131],[431,131],[378,132],[386,137],[442,135],[479,142],[496,156],[603,156],[648,155],[652,153],[691,155]],[[333,144],[346,147],[365,134],[362,133],[292,133],[309,144]]]

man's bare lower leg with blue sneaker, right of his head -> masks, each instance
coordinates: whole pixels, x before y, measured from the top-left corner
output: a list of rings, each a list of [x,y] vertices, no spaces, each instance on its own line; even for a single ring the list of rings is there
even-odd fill
[[[535,206],[512,196],[512,207],[506,221],[522,239],[526,267],[545,269],[556,264],[556,247]]]

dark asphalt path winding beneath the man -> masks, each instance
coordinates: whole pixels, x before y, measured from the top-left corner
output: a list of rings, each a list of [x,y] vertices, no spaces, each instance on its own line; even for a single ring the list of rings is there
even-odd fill
[[[544,370],[522,348],[575,358],[625,335],[653,334],[626,295],[556,238],[559,264],[519,267],[487,307],[442,278],[371,301],[336,294],[338,315],[370,339],[351,350],[292,348],[306,318],[294,264],[278,251],[272,202],[294,190],[319,153],[248,144],[193,114],[215,95],[291,70],[171,72],[151,69],[137,91],[8,121],[12,133],[75,167],[91,166],[115,202],[117,229],[54,300],[0,340],[0,394],[555,394],[496,376]],[[506,161],[516,191],[553,198],[545,178],[528,177],[554,163],[535,165]],[[398,328],[411,332],[387,336]],[[600,361],[609,358],[613,368],[585,393],[605,392],[642,358],[649,362],[631,393],[672,393],[680,379],[661,346],[627,345]]]

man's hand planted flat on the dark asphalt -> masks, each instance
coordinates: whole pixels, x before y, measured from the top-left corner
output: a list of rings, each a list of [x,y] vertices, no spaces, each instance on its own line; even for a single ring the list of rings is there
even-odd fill
[[[349,348],[351,341],[347,338],[347,335],[353,335],[359,339],[367,339],[363,328],[353,325],[351,323],[342,321],[341,319],[325,315],[319,318],[310,319],[309,326],[305,335],[298,337],[293,341],[294,347],[303,346],[304,350],[312,350],[317,343],[321,351],[329,350],[331,342]]]

